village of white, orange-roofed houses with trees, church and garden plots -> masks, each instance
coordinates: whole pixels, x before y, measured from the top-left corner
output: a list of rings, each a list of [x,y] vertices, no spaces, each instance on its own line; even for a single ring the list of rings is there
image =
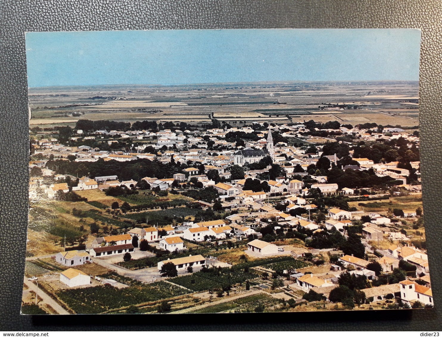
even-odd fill
[[[80,119],[30,138],[25,308],[433,305],[417,127]]]

